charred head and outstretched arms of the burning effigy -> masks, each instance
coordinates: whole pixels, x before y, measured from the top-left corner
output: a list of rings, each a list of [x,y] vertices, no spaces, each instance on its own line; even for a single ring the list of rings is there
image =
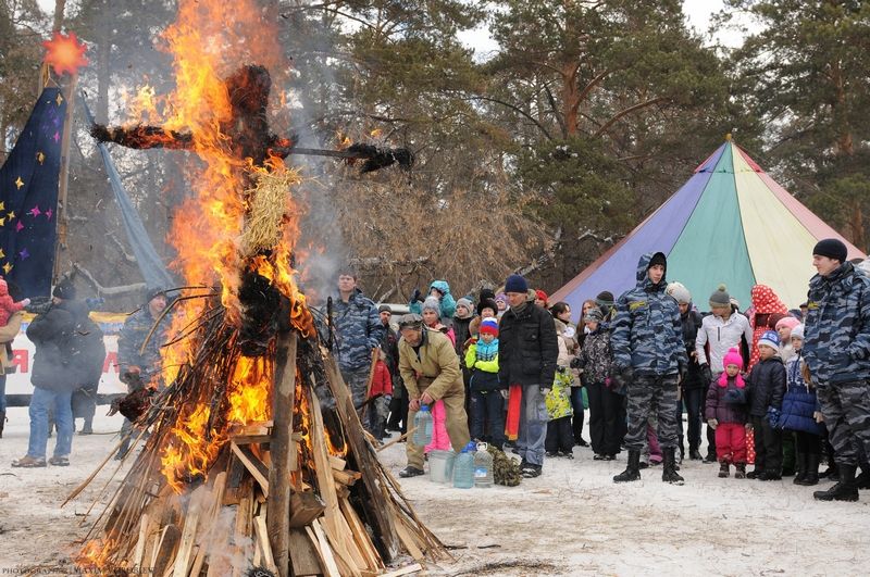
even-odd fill
[[[224,84],[229,95],[232,115],[221,123],[221,133],[227,137],[234,155],[240,159],[250,158],[257,166],[263,166],[270,156],[286,159],[290,154],[344,159],[351,164],[361,160],[364,161],[361,173],[378,171],[393,164],[410,168],[414,163],[413,153],[406,148],[380,148],[364,143],[356,143],[344,150],[300,148],[291,139],[272,134],[265,114],[272,79],[263,66],[244,66],[226,78]],[[171,130],[162,126],[108,127],[94,124],[90,134],[100,142],[114,142],[140,150],[195,148],[191,133]]]

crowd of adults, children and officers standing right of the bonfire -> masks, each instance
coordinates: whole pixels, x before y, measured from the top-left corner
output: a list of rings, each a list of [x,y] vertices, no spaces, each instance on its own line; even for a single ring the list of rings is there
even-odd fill
[[[368,375],[370,347],[383,351],[389,401],[369,422],[378,438],[407,432],[431,407],[433,443],[408,438],[402,477],[422,475],[430,450],[474,439],[517,453],[529,478],[582,446],[595,460],[627,454],[614,482],[661,464],[662,480],[682,485],[687,459],[719,463],[719,477],[732,467],[735,478],[805,486],[828,477],[836,484],[816,499],[854,501],[870,487],[870,277],[846,254],[840,240],[820,241],[808,300],[791,310],[765,285],[745,310],[726,285],[699,308],[666,279],[663,253],[645,254],[636,286],[585,301],[579,325],[568,303],[549,303],[519,275],[460,299],[435,280],[394,323],[348,272],[341,298],[358,312],[334,313],[339,364],[362,405],[353,371]]]

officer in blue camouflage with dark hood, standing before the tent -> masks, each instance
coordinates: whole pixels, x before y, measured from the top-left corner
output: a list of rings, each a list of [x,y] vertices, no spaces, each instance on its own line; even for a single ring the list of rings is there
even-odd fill
[[[678,384],[688,360],[676,301],[667,292],[664,253],[644,254],[637,263],[637,286],[617,301],[610,343],[613,378],[629,397],[629,465],[614,482],[641,479],[641,451],[646,443],[650,412],[658,416],[658,437],[664,453],[661,480],[682,485],[674,452],[680,440],[676,414]]]

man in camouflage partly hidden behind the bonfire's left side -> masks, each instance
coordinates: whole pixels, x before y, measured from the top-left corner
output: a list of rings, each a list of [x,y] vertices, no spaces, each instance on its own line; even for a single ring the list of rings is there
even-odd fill
[[[149,289],[145,304],[124,321],[121,333],[117,336],[117,365],[121,371],[121,380],[127,386],[128,392],[135,392],[142,387],[152,387],[162,390],[165,384],[162,379],[162,359],[160,348],[166,341],[166,334],[170,327],[170,317],[165,315],[161,318],[160,325],[154,329],[151,338],[151,329],[154,322],[160,317],[166,308],[169,300],[163,289]],[[148,342],[146,343],[146,339]],[[145,349],[142,344],[145,343]],[[127,434],[133,428],[133,424],[124,419],[121,427],[121,436],[126,437],[115,455],[122,460],[129,450],[129,436]]]

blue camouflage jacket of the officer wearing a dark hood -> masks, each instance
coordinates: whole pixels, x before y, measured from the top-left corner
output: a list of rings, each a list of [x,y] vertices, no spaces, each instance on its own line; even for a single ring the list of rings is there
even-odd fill
[[[661,281],[654,285],[647,275],[655,254],[641,256],[637,286],[617,300],[610,346],[613,364],[619,369],[631,366],[642,375],[675,375],[688,362],[683,323],[676,301],[664,292],[666,278],[662,276]]]

